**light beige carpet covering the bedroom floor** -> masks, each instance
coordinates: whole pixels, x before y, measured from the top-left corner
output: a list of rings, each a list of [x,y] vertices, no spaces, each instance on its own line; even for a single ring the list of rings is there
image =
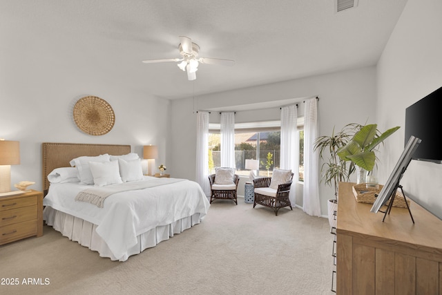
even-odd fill
[[[215,200],[182,234],[131,256],[100,258],[44,227],[44,236],[0,246],[0,294],[333,294],[326,218],[300,209]],[[23,278],[48,285],[23,285]]]

